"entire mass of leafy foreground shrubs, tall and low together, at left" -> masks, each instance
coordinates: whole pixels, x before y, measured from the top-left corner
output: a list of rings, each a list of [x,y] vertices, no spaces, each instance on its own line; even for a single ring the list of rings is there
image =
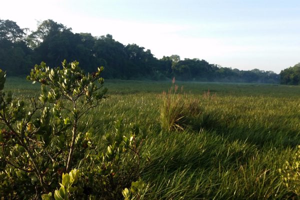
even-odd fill
[[[136,137],[139,127],[129,137],[123,131],[114,139],[108,134],[105,153],[96,147],[92,129],[78,131],[81,116],[106,93],[99,77],[103,67],[85,74],[78,64],[35,65],[27,79],[41,83],[41,94],[29,104],[3,91],[5,72],[0,70],[0,199],[39,199],[41,194],[56,200],[119,199],[122,189],[138,180],[145,137]],[[136,198],[140,193],[127,194]]]

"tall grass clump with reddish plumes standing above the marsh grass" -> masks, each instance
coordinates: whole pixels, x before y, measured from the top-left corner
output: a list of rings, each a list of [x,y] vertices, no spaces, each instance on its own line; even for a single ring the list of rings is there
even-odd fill
[[[168,92],[162,93],[160,123],[165,130],[183,130],[190,125],[193,117],[202,112],[200,100],[182,93],[182,89],[178,92],[178,85],[173,78]]]

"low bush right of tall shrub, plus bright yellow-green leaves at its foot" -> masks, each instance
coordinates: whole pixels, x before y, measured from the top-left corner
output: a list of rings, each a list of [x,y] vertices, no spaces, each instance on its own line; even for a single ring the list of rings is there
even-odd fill
[[[54,192],[55,200],[143,198],[148,185],[138,177],[141,162],[149,160],[148,153],[140,152],[146,134],[137,125],[133,125],[129,134],[126,134],[121,119],[116,122],[115,128],[115,136],[105,135],[108,143],[105,152],[89,152],[81,160],[80,172],[73,169],[69,175],[62,174],[60,188]],[[93,145],[88,140],[91,149]],[[43,194],[42,199],[52,199],[51,196],[52,192],[49,192]]]

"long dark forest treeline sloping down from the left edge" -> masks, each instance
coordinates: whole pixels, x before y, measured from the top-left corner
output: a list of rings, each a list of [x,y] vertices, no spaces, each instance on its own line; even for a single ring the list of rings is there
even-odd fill
[[[0,19],[0,68],[8,75],[28,74],[41,61],[54,67],[63,59],[79,61],[85,71],[104,66],[105,78],[164,80],[175,76],[194,81],[279,82],[279,74],[273,71],[232,69],[204,59],[180,59],[179,55],[158,59],[137,44],[124,45],[110,34],[73,33],[51,19],[40,22],[36,30]]]

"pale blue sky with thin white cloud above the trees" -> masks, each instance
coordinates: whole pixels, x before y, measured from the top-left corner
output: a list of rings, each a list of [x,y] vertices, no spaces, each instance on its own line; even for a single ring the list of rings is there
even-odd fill
[[[300,62],[300,0],[0,0],[0,18],[30,30],[53,19],[73,32],[108,33],[157,58],[277,73]]]

